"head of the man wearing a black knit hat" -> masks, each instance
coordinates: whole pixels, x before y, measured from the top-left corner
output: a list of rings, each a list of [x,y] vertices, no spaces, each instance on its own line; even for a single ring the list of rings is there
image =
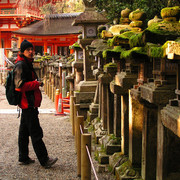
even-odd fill
[[[34,51],[33,45],[31,42],[27,41],[26,39],[21,43],[21,53],[26,56],[27,58],[33,58]]]

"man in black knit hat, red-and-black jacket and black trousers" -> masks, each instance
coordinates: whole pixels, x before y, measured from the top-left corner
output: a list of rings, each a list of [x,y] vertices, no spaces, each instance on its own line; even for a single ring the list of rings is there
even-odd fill
[[[38,107],[41,105],[42,95],[37,75],[33,69],[33,45],[27,40],[21,43],[21,53],[18,55],[14,69],[14,83],[17,91],[21,92],[19,107],[22,109],[19,127],[19,164],[26,165],[34,163],[29,157],[29,136],[40,164],[50,168],[58,158],[49,158],[46,146],[42,140],[43,131],[39,123]]]

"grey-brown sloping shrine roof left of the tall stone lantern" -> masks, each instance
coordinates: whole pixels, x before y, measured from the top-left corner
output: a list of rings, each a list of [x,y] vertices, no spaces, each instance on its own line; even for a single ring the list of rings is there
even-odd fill
[[[65,13],[48,15],[42,21],[13,31],[13,33],[35,36],[79,34],[81,27],[71,25],[79,14]]]

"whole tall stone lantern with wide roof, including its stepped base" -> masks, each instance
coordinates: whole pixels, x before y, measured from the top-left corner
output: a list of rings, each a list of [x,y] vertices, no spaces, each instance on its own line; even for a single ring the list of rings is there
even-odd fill
[[[80,113],[86,118],[86,112],[89,109],[89,105],[93,101],[95,90],[97,87],[97,81],[93,76],[91,69],[93,60],[89,56],[89,51],[86,49],[87,45],[97,37],[98,26],[106,24],[108,20],[95,10],[95,0],[83,0],[85,5],[85,11],[81,13],[72,23],[73,26],[82,26],[82,39],[78,39],[78,44],[83,50],[83,75],[84,80],[80,81],[78,87],[74,93],[76,97],[76,103],[80,104]]]

